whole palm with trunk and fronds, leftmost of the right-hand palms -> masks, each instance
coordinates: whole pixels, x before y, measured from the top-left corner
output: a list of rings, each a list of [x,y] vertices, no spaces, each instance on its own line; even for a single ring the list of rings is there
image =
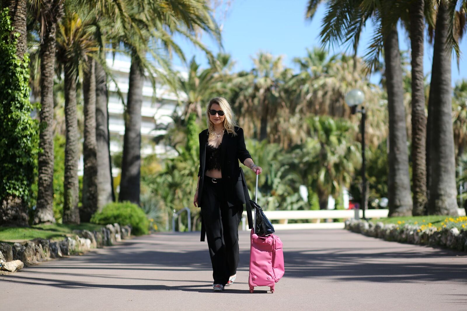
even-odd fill
[[[312,18],[319,2],[310,0],[307,17]],[[384,48],[385,78],[389,111],[389,215],[411,215],[409,157],[407,129],[403,106],[403,81],[398,33],[388,12],[396,10],[396,2],[384,1],[329,1],[323,18],[321,38],[323,44],[350,42],[356,53],[362,28],[368,18],[379,25],[374,42],[368,51],[368,63],[375,68]],[[384,13],[383,13],[384,12]]]

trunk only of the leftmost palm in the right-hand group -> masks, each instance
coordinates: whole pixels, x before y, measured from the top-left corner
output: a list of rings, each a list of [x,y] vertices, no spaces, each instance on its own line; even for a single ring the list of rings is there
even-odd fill
[[[412,214],[402,69],[396,27],[384,42],[389,110],[389,216]]]

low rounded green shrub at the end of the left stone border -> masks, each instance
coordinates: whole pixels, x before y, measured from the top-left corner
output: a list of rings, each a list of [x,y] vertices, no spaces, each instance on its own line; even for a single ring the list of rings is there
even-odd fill
[[[132,226],[134,235],[148,233],[149,220],[143,210],[130,202],[110,203],[101,212],[92,215],[91,222],[100,225],[118,223],[120,226]]]

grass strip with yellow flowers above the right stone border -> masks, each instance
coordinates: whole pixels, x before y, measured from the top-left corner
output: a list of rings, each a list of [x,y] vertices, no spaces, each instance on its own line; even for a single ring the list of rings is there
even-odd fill
[[[405,216],[405,217],[388,217],[382,219],[371,219],[373,223],[381,221],[384,224],[396,224],[396,225],[417,225],[417,226],[435,226],[438,229],[442,228],[453,228],[456,227],[459,230],[467,229],[467,217],[466,216],[443,216],[443,215],[431,215],[431,216]]]

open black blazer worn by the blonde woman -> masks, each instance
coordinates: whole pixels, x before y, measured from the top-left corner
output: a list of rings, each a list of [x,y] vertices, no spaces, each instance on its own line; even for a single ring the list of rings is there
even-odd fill
[[[244,181],[242,182],[242,172],[238,160],[244,163],[251,158],[245,146],[245,138],[241,127],[234,127],[236,136],[228,134],[224,130],[222,143],[220,144],[220,163],[222,179],[226,180],[227,204],[230,206],[246,204],[247,199],[244,194]],[[206,144],[208,130],[199,133],[199,185],[198,185],[198,206],[203,204],[203,186],[205,180]],[[248,192],[247,192],[248,193]],[[249,198],[248,198],[249,199]]]

